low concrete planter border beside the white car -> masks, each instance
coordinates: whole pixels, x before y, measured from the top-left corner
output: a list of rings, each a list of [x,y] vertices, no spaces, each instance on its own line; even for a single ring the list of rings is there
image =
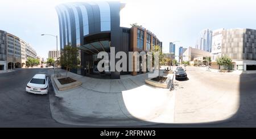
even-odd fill
[[[63,78],[63,77],[61,77],[61,78]],[[59,91],[71,90],[71,89],[74,89],[74,88],[76,88],[76,87],[82,85],[82,83],[79,82],[79,81],[72,82],[72,83],[68,83],[68,84],[66,84],[66,85],[61,85],[58,79],[60,79],[60,78],[54,78],[54,77],[52,77],[52,80],[53,80],[53,82],[55,83],[55,86],[57,87],[57,89],[58,89]]]

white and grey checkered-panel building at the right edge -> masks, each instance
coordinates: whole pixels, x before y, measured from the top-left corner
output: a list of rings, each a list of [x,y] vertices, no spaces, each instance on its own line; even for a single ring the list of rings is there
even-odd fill
[[[236,28],[214,31],[212,68],[220,68],[216,60],[221,56],[232,59],[232,70],[256,70],[256,30]]]

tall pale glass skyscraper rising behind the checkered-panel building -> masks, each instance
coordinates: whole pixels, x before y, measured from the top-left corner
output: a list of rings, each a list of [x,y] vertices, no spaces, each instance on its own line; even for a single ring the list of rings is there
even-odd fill
[[[200,32],[199,39],[196,41],[196,49],[212,52],[212,30],[205,29]]]

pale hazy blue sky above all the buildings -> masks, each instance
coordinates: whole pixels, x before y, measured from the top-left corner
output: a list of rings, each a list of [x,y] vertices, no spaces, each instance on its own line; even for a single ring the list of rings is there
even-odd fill
[[[0,30],[20,37],[35,48],[38,56],[48,58],[48,50],[56,49],[56,39],[41,34],[59,36],[59,21],[55,6],[65,2],[77,1],[1,0]],[[176,43],[176,54],[179,47],[195,47],[199,32],[205,28],[256,30],[255,0],[121,0],[121,2],[126,3],[126,7],[120,12],[121,27],[131,27],[130,24],[133,23],[142,25],[163,42],[164,52],[169,52],[169,43],[172,41],[179,41]]]

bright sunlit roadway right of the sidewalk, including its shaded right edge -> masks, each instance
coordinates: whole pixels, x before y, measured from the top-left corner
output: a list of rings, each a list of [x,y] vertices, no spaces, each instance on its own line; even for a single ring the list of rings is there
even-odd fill
[[[255,127],[256,74],[215,73],[199,67],[187,67],[187,74],[187,80],[175,81],[177,127]]]

